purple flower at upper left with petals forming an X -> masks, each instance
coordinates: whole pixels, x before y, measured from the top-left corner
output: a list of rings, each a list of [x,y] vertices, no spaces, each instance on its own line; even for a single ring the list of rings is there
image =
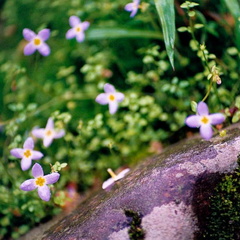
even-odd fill
[[[24,48],[24,55],[31,55],[38,50],[43,56],[50,54],[50,48],[45,41],[50,37],[50,30],[45,28],[38,34],[28,28],[23,29],[23,37],[29,41]]]

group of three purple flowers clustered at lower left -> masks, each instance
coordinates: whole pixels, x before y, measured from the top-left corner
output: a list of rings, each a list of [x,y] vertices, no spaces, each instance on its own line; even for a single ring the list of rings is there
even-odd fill
[[[48,119],[45,128],[36,128],[32,131],[32,135],[34,137],[43,139],[43,145],[45,147],[50,146],[53,139],[61,138],[64,134],[64,130],[55,130],[52,118]],[[23,144],[23,148],[14,148],[10,151],[10,153],[16,158],[21,158],[21,168],[23,171],[26,171],[31,167],[32,160],[39,160],[43,157],[41,152],[34,150],[34,140],[32,137],[26,139]],[[39,197],[44,201],[49,201],[51,192],[47,184],[57,182],[60,174],[52,172],[48,175],[44,175],[41,165],[35,163],[32,168],[32,175],[34,178],[24,181],[21,184],[20,189],[23,191],[31,191],[37,188]]]

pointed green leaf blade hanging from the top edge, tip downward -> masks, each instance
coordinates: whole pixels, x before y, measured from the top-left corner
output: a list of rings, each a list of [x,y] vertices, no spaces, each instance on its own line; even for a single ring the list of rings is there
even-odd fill
[[[162,24],[163,37],[170,63],[174,69],[175,12],[174,0],[154,0]]]

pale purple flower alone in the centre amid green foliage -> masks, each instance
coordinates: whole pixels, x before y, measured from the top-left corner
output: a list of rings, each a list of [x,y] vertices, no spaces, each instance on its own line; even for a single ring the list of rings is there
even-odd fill
[[[124,94],[116,92],[113,85],[106,83],[104,85],[105,93],[99,94],[95,101],[102,105],[109,104],[110,114],[114,114],[118,108],[118,102],[122,102],[124,99]]]

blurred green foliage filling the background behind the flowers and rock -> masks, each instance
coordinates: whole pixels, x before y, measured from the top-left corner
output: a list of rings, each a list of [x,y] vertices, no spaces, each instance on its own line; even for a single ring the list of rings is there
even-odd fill
[[[206,93],[211,112],[225,109],[232,121],[239,120],[240,41],[236,26],[218,22],[232,13],[227,5],[186,2],[174,13],[173,1],[170,7],[168,1],[146,1],[130,18],[124,11],[128,2],[1,4],[0,239],[17,239],[59,212],[69,183],[88,191],[108,177],[107,168],[132,166],[150,154],[152,143],[167,145],[185,137],[185,118]],[[206,16],[206,9],[219,18]],[[65,38],[72,15],[90,22],[82,43]],[[175,25],[182,31],[175,33]],[[22,30],[45,27],[51,29],[51,54],[24,56]],[[125,94],[114,115],[95,102],[105,83]],[[44,154],[39,160],[44,172],[52,166],[61,174],[45,203],[36,191],[19,189],[31,170],[22,172],[10,150],[22,148],[32,129],[45,127],[50,116],[66,135],[48,148],[35,139],[35,149]]]

